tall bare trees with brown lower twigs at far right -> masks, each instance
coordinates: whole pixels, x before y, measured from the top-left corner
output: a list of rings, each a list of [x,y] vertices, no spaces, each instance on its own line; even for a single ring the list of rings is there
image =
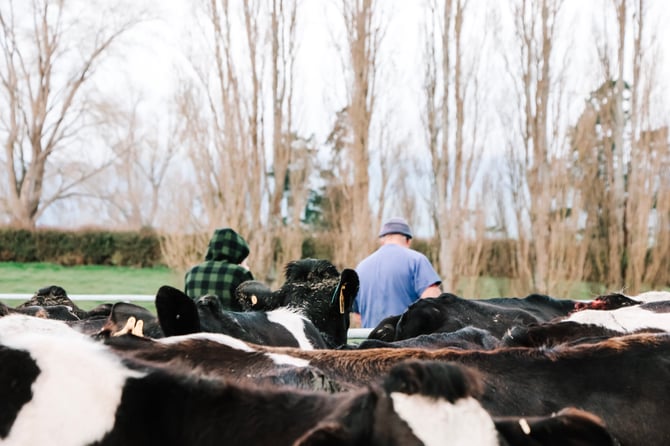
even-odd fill
[[[654,242],[663,238],[655,219],[663,215],[657,197],[665,184],[667,124],[655,119],[658,42],[646,6],[643,0],[605,4],[605,30],[595,39],[602,83],[580,117],[575,144],[593,279],[635,291],[650,277],[650,246],[665,249]],[[612,23],[616,33],[607,33]]]

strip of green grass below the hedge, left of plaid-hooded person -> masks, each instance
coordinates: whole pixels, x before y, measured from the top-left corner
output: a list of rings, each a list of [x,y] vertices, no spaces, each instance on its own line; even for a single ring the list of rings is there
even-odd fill
[[[76,294],[106,294],[114,302],[115,295],[155,295],[162,285],[183,288],[184,278],[168,268],[130,268],[118,266],[85,265],[60,266],[50,263],[0,262],[0,294],[25,294],[22,300],[6,300],[16,305],[29,299],[40,288],[58,285],[68,296]],[[77,301],[88,309],[97,302]],[[139,304],[139,303],[138,303]],[[144,303],[142,303],[144,304]],[[152,303],[153,305],[153,303]]]

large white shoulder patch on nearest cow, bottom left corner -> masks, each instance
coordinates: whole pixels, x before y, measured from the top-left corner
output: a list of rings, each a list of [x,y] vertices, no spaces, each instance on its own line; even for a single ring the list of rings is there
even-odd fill
[[[5,316],[0,318],[0,344],[28,351],[40,369],[32,400],[21,408],[2,443],[7,446],[78,446],[101,440],[114,426],[126,379],[143,376],[124,367],[104,344],[59,321]]]

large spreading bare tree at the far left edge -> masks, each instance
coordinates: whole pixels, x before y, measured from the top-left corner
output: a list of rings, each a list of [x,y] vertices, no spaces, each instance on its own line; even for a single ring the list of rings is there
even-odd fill
[[[72,0],[8,0],[0,6],[0,168],[7,181],[2,208],[11,223],[33,228],[50,205],[76,193],[100,168],[83,166],[56,182],[51,160],[87,126],[91,100],[86,87],[113,45],[143,14],[127,15],[103,5],[95,28],[76,18]],[[74,44],[78,42],[78,44]]]

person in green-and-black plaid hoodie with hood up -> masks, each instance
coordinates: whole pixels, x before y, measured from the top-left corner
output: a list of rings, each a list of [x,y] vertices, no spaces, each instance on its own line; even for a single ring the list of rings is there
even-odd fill
[[[253,280],[246,267],[249,245],[231,228],[215,229],[205,261],[191,268],[185,277],[185,290],[191,299],[214,294],[224,309],[242,311],[234,299],[235,289],[245,280]]]

